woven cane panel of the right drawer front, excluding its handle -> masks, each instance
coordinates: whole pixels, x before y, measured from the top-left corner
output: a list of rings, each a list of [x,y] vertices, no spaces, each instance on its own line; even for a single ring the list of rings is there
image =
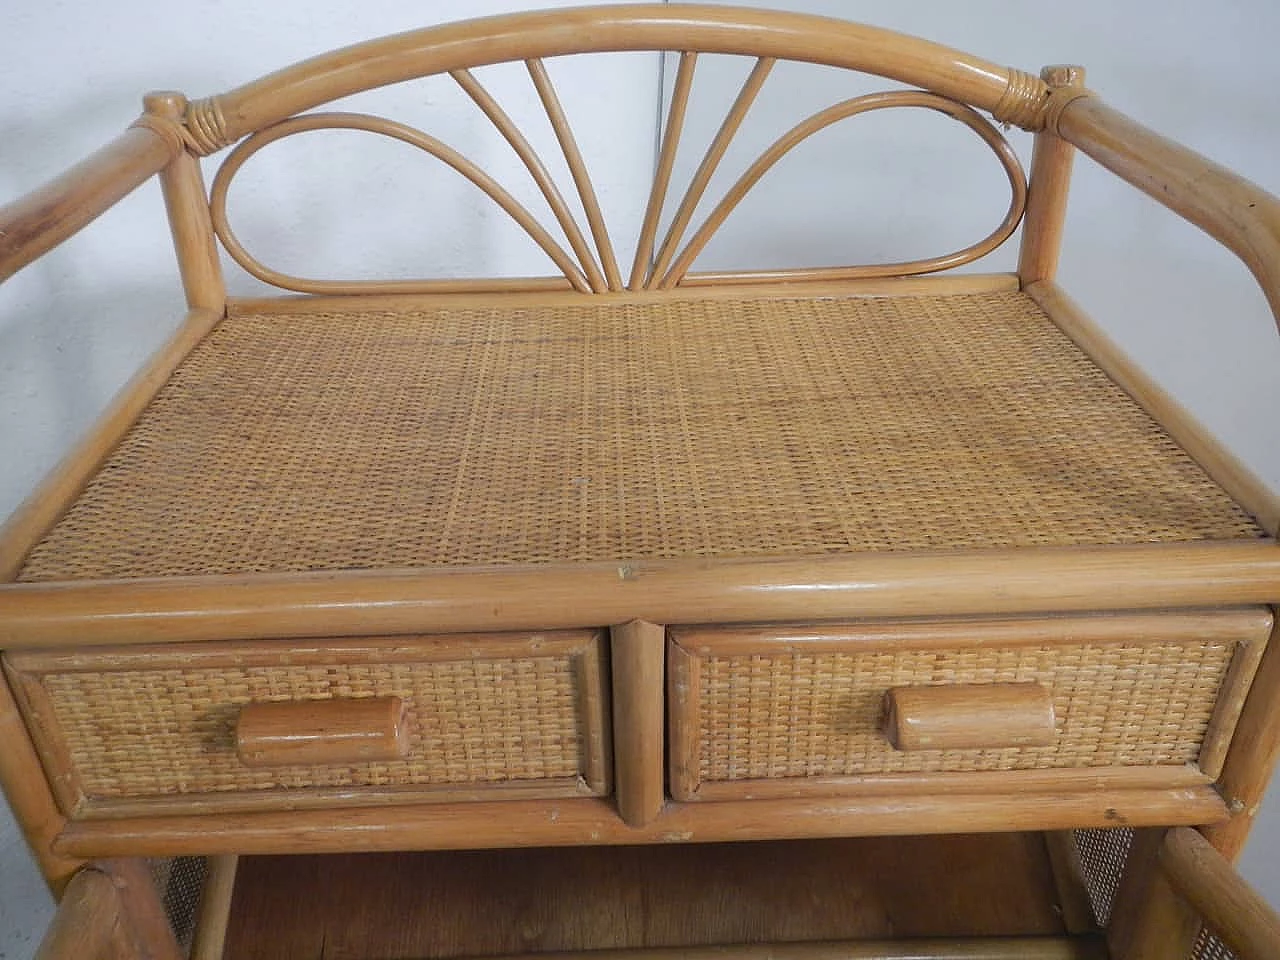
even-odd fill
[[[1229,643],[712,657],[701,668],[704,781],[1194,763]],[[899,751],[879,732],[901,685],[1038,681],[1052,746]]]

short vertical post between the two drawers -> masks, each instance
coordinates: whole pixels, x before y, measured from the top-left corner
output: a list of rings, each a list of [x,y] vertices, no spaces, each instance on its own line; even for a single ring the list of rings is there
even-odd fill
[[[641,827],[662,810],[666,631],[634,620],[611,631],[618,813]]]

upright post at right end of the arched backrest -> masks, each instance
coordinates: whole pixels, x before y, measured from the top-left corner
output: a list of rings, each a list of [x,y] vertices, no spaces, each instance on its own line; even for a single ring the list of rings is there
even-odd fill
[[[1041,79],[1050,87],[1083,87],[1084,68],[1046,67],[1041,70]],[[1057,274],[1074,159],[1075,147],[1052,131],[1036,134],[1027,214],[1023,219],[1023,246],[1018,256],[1018,275],[1023,287],[1052,280]]]

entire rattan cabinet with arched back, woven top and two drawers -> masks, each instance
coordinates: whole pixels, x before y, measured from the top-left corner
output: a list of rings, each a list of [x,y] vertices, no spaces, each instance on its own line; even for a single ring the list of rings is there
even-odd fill
[[[632,265],[545,65],[595,50],[675,65]],[[681,196],[690,88],[722,55],[751,68]],[[778,60],[910,88],[801,120],[699,224]],[[499,61],[524,61],[585,224],[483,84]],[[563,242],[428,133],[312,113],[436,74],[525,161]],[[1012,198],[989,237],[691,270],[791,147],[890,108],[992,148]],[[1029,187],[979,111],[1036,132]],[[265,266],[232,232],[229,183],[332,128],[444,161],[558,275]],[[206,191],[200,157],[232,146]],[[191,916],[175,934],[150,877],[192,869],[205,960],[257,956],[268,929],[276,956],[1280,955],[1229,865],[1280,744],[1280,502],[1056,285],[1075,150],[1238,253],[1280,311],[1280,202],[1079,69],[724,6],[499,17],[218,97],[155,93],[0,210],[8,275],[157,175],[189,302],[0,540],[0,778],[61,896],[44,955],[178,956]],[[945,273],[1019,224],[1016,274]],[[219,247],[305,296],[229,298]],[[246,933],[285,874],[300,886],[273,910],[349,899]],[[392,876],[431,892],[397,911]],[[520,902],[485,899],[512,877]],[[838,923],[776,918],[796,890]],[[476,911],[471,940],[412,919],[439,904],[454,925]],[[575,904],[630,920],[557,940],[547,918]],[[684,933],[653,919],[680,910]],[[365,940],[334,946],[361,916]],[[378,940],[411,923],[425,940]]]

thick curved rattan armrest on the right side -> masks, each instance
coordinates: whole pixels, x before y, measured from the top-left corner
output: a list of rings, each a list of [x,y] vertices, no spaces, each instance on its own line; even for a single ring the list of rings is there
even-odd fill
[[[1068,104],[1057,133],[1240,257],[1280,326],[1280,200],[1097,97]]]

